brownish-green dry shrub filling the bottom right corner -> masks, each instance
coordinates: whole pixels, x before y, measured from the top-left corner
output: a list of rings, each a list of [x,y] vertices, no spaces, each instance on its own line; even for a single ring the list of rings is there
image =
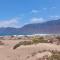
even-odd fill
[[[52,52],[52,56],[44,56],[43,58],[38,58],[37,60],[60,60],[60,52]]]

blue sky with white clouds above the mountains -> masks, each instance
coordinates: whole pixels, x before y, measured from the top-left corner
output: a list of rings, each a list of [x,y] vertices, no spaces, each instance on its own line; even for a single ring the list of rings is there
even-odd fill
[[[0,0],[0,27],[22,27],[60,18],[60,0]]]

